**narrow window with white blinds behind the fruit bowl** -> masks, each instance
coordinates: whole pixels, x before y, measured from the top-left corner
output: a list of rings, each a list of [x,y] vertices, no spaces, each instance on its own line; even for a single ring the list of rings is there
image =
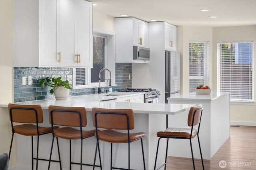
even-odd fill
[[[194,92],[200,84],[209,86],[209,42],[189,43],[189,92]]]

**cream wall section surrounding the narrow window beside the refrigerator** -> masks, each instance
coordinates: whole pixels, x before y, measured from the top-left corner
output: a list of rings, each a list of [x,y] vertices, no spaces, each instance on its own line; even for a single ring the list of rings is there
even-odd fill
[[[189,41],[209,41],[210,87],[212,88],[212,27],[177,27],[177,52],[181,53],[181,92],[189,93]]]

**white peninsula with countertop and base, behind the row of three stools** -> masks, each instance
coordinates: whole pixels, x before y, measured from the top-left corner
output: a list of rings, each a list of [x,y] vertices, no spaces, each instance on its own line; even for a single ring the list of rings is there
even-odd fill
[[[182,114],[183,112],[188,113],[188,109],[192,106],[191,104],[150,104],[150,103],[132,103],[132,102],[115,102],[118,98],[131,98],[132,96],[138,96],[139,93],[134,92],[116,92],[110,95],[108,94],[94,94],[86,96],[74,96],[69,97],[68,100],[36,100],[30,102],[20,102],[16,104],[40,104],[44,112],[44,123],[42,126],[50,126],[48,117],[48,106],[83,106],[87,111],[87,126],[83,129],[90,130],[94,129],[92,125],[91,109],[92,107],[121,109],[131,108],[134,110],[134,123],[135,128],[131,133],[145,132],[146,137],[143,139],[144,154],[146,159],[146,169],[151,170],[154,168],[154,158],[156,153],[157,137],[156,132],[163,130],[166,127],[166,114],[170,117],[176,114]],[[106,101],[108,100],[108,101]],[[103,101],[103,102],[102,102]],[[105,101],[105,102],[104,102]],[[8,104],[2,104],[1,107],[8,107]],[[7,109],[7,108],[6,108]],[[10,132],[11,133],[11,132]],[[30,169],[31,167],[31,138],[24,137],[22,135],[16,135],[17,140],[17,164],[18,169]],[[50,146],[52,141],[52,135],[47,134],[40,137],[39,144],[39,155],[40,158],[47,159],[50,154]],[[60,154],[62,158],[62,169],[68,170],[69,153],[66,148],[69,146],[69,142],[66,140],[59,140],[60,143]],[[125,167],[128,163],[128,151],[127,144],[116,144],[118,145],[114,150],[113,164],[118,167]],[[162,144],[163,145],[163,144]],[[34,146],[36,146],[36,139],[34,140]],[[163,145],[164,146],[164,145]],[[94,152],[96,147],[96,139],[94,137],[84,140],[84,152],[83,162],[93,162]],[[56,143],[54,143],[54,150],[52,160],[58,160],[58,152],[56,149]],[[110,167],[110,144],[100,142],[100,152],[102,156],[103,169],[109,169]],[[72,158],[74,160],[80,160],[80,140],[72,141]],[[24,156],[24,153],[28,154]],[[165,149],[160,149],[159,159],[164,159]],[[35,153],[34,153],[35,154]],[[162,156],[162,157],[161,157]],[[98,164],[98,157],[96,159]],[[79,162],[79,161],[78,161]],[[131,144],[131,165],[133,169],[142,169],[142,153],[140,142],[136,141]],[[76,166],[76,165],[74,165]],[[39,169],[47,169],[47,161],[39,161]],[[52,163],[51,169],[59,169],[58,163]],[[84,166],[84,170],[91,169],[90,166]]]

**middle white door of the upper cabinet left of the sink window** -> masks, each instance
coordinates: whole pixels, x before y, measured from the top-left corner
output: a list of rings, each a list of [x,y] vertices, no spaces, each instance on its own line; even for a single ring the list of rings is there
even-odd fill
[[[60,0],[60,35],[57,49],[61,53],[60,66],[76,66],[76,0]]]

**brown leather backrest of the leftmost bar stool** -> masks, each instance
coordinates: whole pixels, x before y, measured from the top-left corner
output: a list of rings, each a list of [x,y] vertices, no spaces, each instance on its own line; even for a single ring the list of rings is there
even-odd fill
[[[18,123],[42,123],[44,121],[41,105],[8,104],[10,121]]]

